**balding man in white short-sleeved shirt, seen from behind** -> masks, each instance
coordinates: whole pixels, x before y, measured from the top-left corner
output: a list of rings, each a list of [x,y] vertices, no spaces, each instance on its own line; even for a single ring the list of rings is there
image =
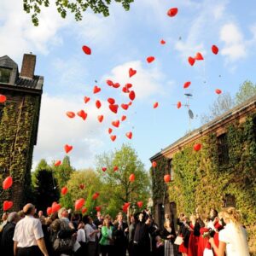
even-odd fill
[[[32,204],[23,207],[25,218],[15,226],[14,253],[15,256],[49,256],[44,243],[42,224],[38,218],[34,218],[36,212]],[[42,253],[41,253],[42,252]]]

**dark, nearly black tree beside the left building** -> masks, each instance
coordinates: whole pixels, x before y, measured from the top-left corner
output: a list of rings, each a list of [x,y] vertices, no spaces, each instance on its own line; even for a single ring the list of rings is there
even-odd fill
[[[38,169],[34,177],[35,205],[38,210],[46,211],[52,202],[58,201],[60,192],[55,187],[56,180],[53,171],[49,169]]]

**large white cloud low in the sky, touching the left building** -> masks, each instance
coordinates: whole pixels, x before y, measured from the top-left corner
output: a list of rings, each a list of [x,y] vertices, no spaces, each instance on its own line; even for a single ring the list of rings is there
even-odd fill
[[[88,113],[84,121],[78,116],[74,119],[67,118],[66,112],[77,113],[84,109]],[[97,120],[99,114],[104,115],[100,124]],[[66,154],[64,145],[73,145],[70,157],[75,167],[90,165],[94,156],[103,147],[102,138],[107,133],[109,120],[107,103],[102,101],[102,108],[97,109],[93,101],[83,102],[83,97],[48,96],[44,94],[40,113],[38,143],[34,150],[34,164],[44,158],[51,160],[62,159]]]

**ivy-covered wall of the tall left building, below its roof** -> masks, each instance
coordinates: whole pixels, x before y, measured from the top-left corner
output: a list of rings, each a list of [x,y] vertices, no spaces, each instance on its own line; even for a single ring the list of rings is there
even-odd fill
[[[0,203],[14,202],[10,211],[18,211],[31,192],[32,152],[38,125],[40,96],[13,91],[6,95],[0,118],[0,183],[13,177],[11,189],[0,188]],[[1,211],[3,208],[1,207]]]

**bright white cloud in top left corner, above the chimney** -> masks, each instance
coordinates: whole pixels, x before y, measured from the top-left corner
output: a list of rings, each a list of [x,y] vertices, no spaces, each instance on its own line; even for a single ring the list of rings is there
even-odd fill
[[[52,4],[42,8],[39,26],[33,26],[31,16],[23,11],[22,1],[15,0],[0,2],[0,17],[0,55],[9,55],[15,60],[28,52],[48,54],[53,45],[61,44],[58,31],[69,23],[68,19],[61,19]]]

